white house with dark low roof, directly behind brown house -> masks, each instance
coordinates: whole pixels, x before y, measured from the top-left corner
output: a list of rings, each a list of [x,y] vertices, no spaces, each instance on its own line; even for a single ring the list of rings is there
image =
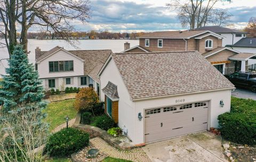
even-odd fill
[[[208,26],[208,27],[197,28],[195,30],[209,30],[211,32],[217,33],[220,36],[225,37],[222,39],[222,47],[225,47],[226,45],[234,45],[237,41],[241,40],[242,38],[246,38],[246,35],[247,35],[247,32],[245,31],[229,29],[229,28],[220,27],[220,26]],[[243,51],[239,51],[239,52],[243,52]]]

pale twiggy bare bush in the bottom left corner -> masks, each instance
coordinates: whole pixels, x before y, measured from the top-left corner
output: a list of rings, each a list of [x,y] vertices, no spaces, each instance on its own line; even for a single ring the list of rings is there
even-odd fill
[[[15,112],[0,115],[0,161],[42,161],[47,125],[41,123],[41,108],[21,105]]]

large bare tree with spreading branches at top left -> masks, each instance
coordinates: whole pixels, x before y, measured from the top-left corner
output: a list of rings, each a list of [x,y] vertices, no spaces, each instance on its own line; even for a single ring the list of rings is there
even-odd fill
[[[69,21],[87,22],[89,15],[89,0],[0,0],[0,33],[5,38],[3,45],[11,54],[13,46],[17,44],[16,24],[21,28],[19,41],[25,51],[27,32],[31,27],[53,31],[69,41],[68,33],[74,30]]]

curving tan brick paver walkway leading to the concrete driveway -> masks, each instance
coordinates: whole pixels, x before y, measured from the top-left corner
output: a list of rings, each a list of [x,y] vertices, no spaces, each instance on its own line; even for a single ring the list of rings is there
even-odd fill
[[[110,146],[106,141],[101,138],[93,138],[90,140],[93,147],[99,149],[103,154],[119,159],[131,160],[134,162],[151,162],[146,153],[141,148],[132,150],[119,150]]]

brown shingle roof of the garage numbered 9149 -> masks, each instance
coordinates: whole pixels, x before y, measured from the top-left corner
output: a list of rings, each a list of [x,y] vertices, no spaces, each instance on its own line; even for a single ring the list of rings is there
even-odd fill
[[[230,88],[198,52],[112,54],[132,99]]]

